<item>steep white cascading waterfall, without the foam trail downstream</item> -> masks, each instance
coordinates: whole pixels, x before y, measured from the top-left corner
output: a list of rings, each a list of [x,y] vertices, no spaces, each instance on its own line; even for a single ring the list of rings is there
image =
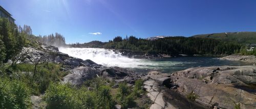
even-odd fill
[[[104,66],[118,66],[123,68],[137,68],[143,59],[131,59],[111,49],[104,48],[59,48],[60,52],[82,60],[90,59]]]

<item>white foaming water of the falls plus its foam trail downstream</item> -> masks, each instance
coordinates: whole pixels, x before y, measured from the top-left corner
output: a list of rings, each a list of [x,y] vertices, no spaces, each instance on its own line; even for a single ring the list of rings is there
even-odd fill
[[[59,48],[59,51],[82,60],[90,59],[95,63],[104,66],[159,69],[158,67],[160,66],[169,67],[181,64],[180,62],[156,62],[147,59],[131,59],[122,56],[120,52],[104,48]]]

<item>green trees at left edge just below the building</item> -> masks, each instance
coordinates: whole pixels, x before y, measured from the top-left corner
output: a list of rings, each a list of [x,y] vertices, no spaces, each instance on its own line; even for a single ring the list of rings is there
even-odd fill
[[[24,28],[0,18],[0,65],[14,60],[16,55],[27,45],[27,38],[32,35],[30,26]]]

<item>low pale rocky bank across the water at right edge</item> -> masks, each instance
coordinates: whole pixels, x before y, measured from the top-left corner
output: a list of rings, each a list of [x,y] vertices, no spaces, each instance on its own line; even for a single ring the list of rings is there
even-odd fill
[[[249,62],[249,63],[256,63],[255,56],[241,56],[238,54],[222,57],[220,59],[221,60],[229,60],[229,61],[243,61],[243,62]]]

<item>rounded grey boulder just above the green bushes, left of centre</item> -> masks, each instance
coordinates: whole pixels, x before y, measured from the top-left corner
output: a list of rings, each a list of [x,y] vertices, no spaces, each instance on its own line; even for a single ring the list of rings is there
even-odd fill
[[[64,83],[70,83],[74,86],[80,86],[84,81],[92,79],[99,75],[99,71],[90,67],[79,67],[70,70],[70,74],[63,77]]]

